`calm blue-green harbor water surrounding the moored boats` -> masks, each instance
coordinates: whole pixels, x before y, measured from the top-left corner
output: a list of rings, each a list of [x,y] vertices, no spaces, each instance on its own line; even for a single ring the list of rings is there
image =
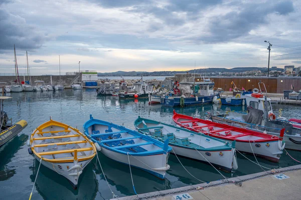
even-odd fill
[[[26,140],[32,130],[49,120],[62,121],[82,130],[83,123],[94,118],[124,124],[134,128],[133,121],[138,115],[171,122],[173,108],[161,105],[148,105],[147,99],[119,100],[114,96],[96,96],[94,89],[48,92],[21,92],[9,94],[13,99],[5,101],[5,110],[13,117],[13,121],[25,119],[28,126],[0,148],[0,193],[2,199],[27,199],[30,195],[39,162],[28,153]],[[274,113],[286,117],[301,118],[299,106],[273,104]],[[222,112],[223,110],[244,110],[244,107],[221,105],[192,106],[176,108],[179,113],[196,117],[204,117],[206,112]],[[296,159],[301,159],[297,151],[288,151]],[[102,153],[98,153],[104,173],[113,192],[118,196],[134,194],[129,168],[127,165],[115,162]],[[247,155],[254,160],[252,155]],[[273,163],[257,158],[269,168],[279,168],[297,164],[288,155],[283,154],[279,163]],[[223,178],[212,166],[194,160],[180,158],[185,167],[197,178],[212,181]],[[200,183],[190,176],[174,155],[169,158],[170,170],[166,179],[155,176],[132,167],[133,181],[137,193],[145,193],[169,188]],[[243,158],[238,153],[238,169],[232,173],[222,172],[226,177],[260,172],[262,169]],[[96,159],[85,167],[80,176],[79,187],[73,190],[67,179],[41,165],[32,199],[108,199],[111,192],[106,184],[103,173]]]

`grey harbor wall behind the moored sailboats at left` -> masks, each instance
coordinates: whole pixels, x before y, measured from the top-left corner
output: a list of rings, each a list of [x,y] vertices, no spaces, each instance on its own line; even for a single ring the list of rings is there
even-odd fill
[[[61,75],[61,81],[64,86],[70,86],[71,80],[75,77],[75,75]],[[11,85],[16,79],[16,76],[0,76],[0,82],[7,82],[8,85]],[[27,76],[25,76],[27,80]],[[32,75],[32,84],[34,85],[35,80],[43,80],[45,84],[50,84],[50,75]],[[20,76],[20,82],[24,80],[24,76]],[[60,76],[59,75],[52,75],[52,84],[59,84]]]

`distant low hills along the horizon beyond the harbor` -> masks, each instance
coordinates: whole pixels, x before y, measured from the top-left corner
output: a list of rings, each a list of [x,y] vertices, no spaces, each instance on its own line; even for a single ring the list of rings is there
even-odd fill
[[[275,68],[273,68],[274,70]],[[277,70],[283,71],[283,68],[276,68]],[[176,73],[218,73],[218,72],[243,72],[250,70],[261,70],[261,72],[266,72],[267,67],[234,67],[234,68],[199,68],[191,69],[186,71],[115,71],[115,72],[105,72],[97,73],[98,76],[174,76]],[[271,68],[270,68],[271,70]]]

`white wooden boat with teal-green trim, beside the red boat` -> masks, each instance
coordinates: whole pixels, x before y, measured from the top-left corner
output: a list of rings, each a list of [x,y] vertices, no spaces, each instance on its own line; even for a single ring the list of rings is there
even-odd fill
[[[213,164],[216,168],[231,172],[237,169],[235,142],[230,144],[224,140],[196,133],[171,124],[150,120],[138,116],[134,121],[136,129],[160,141],[168,140],[176,155]],[[210,163],[209,163],[210,162]],[[234,166],[233,166],[234,165]]]

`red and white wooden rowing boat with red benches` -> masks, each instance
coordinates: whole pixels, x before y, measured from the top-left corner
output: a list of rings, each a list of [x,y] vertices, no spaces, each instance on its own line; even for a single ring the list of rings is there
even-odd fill
[[[195,132],[201,132],[212,137],[235,142],[235,148],[246,153],[255,155],[267,160],[278,162],[285,142],[282,140],[284,129],[279,137],[265,134],[246,128],[221,124],[209,120],[195,118],[192,116],[178,114],[174,110],[173,120],[181,127],[185,127]]]

